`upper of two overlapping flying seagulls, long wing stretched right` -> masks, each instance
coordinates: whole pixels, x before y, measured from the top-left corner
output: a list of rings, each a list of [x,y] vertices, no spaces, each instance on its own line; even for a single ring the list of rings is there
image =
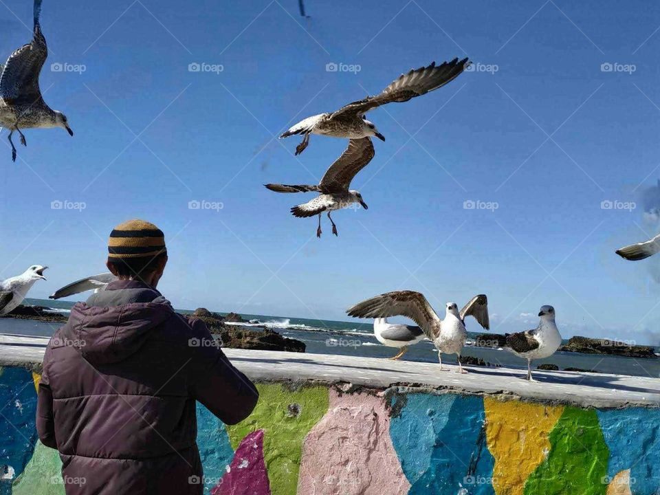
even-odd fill
[[[303,135],[303,142],[296,147],[296,155],[300,155],[307,148],[310,134],[348,137],[349,139],[375,136],[384,141],[385,137],[378,132],[373,122],[364,118],[366,112],[384,104],[406,102],[411,98],[438,89],[454,80],[468,65],[470,62],[467,61],[467,58],[463,58],[461,61],[454,58],[451,62],[443,62],[441,65],[436,66],[433,62],[428,67],[411,69],[407,74],[401,74],[382,93],[349,103],[338,111],[312,115],[292,126],[280,137],[289,137],[294,134]]]

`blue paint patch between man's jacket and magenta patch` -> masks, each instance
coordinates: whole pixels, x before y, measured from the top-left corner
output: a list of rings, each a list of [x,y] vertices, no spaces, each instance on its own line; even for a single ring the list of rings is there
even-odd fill
[[[197,403],[197,447],[204,470],[204,493],[210,494],[211,489],[227,472],[227,466],[232,463],[234,450],[225,424],[199,402]]]

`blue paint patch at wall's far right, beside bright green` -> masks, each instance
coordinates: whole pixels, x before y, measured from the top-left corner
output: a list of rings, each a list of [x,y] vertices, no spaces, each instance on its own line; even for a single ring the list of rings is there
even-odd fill
[[[597,415],[610,450],[608,477],[629,469],[633,495],[660,493],[660,410],[598,410]]]

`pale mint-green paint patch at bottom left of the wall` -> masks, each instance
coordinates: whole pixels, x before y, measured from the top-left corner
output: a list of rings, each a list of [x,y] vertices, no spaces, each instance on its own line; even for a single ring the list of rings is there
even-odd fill
[[[12,495],[65,495],[62,461],[57,450],[38,441],[32,459],[14,481]]]

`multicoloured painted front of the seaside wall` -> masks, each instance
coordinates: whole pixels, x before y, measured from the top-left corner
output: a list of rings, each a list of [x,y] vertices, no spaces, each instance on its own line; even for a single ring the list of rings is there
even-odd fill
[[[64,494],[34,429],[39,375],[0,371],[0,494]],[[259,384],[250,418],[199,406],[212,495],[660,493],[660,409],[546,406],[411,388]]]

